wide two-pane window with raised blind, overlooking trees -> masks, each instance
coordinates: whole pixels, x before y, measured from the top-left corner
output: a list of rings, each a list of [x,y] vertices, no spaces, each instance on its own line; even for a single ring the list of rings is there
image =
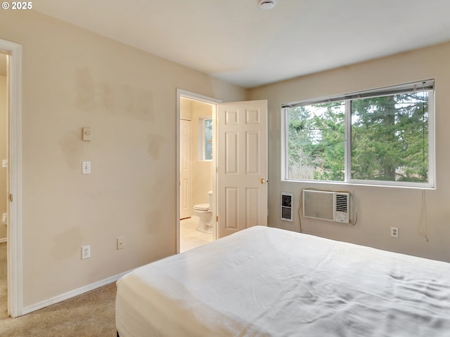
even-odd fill
[[[434,81],[283,105],[285,180],[434,187]]]

